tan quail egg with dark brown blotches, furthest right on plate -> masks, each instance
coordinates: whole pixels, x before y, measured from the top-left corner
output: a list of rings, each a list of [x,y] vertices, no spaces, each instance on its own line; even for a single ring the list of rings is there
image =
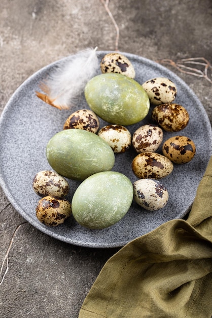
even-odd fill
[[[190,162],[196,152],[194,142],[186,136],[171,137],[163,143],[163,154],[175,164]]]

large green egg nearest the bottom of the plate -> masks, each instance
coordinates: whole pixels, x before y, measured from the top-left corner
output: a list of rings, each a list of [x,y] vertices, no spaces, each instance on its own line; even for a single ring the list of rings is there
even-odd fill
[[[122,173],[104,171],[80,184],[73,196],[72,211],[80,225],[104,229],[124,217],[132,200],[131,181]]]

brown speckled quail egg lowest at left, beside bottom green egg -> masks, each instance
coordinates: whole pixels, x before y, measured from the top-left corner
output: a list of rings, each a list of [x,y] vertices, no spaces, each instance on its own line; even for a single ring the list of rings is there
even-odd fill
[[[56,196],[46,196],[39,200],[36,207],[36,216],[44,225],[56,227],[62,224],[72,213],[69,201]]]

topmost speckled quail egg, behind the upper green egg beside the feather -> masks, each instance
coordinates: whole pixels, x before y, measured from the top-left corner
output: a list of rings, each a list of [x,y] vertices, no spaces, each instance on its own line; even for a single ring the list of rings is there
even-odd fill
[[[135,70],[130,60],[120,53],[108,53],[101,60],[102,73],[119,73],[128,77],[135,77]]]

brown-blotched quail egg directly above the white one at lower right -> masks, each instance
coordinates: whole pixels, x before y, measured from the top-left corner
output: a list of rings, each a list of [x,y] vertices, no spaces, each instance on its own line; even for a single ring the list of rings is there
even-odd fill
[[[173,170],[172,162],[156,152],[142,152],[132,161],[132,171],[139,179],[161,179]]]

